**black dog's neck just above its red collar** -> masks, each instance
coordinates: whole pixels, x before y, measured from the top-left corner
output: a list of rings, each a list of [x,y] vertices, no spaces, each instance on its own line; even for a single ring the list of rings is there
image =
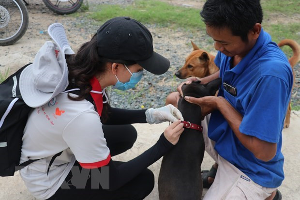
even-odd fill
[[[180,110],[184,121],[201,125],[201,107],[196,104],[191,104],[184,98],[181,98],[178,102],[178,109]]]

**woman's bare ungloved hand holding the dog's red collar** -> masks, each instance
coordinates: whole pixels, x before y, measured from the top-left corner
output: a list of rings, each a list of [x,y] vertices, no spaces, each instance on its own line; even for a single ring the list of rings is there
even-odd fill
[[[183,123],[181,123],[180,120],[177,120],[165,129],[164,136],[169,142],[175,145],[177,144],[183,130]]]

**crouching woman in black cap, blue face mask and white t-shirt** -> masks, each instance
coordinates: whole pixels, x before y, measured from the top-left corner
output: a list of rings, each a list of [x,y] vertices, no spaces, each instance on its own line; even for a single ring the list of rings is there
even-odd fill
[[[143,69],[163,74],[169,61],[153,51],[150,31],[130,17],[105,22],[74,55],[61,49],[46,42],[20,77],[22,97],[35,108],[24,130],[20,162],[40,159],[20,170],[25,185],[42,200],[144,199],[154,186],[147,167],[178,142],[182,115],[171,105],[111,108],[102,88],[130,89]],[[63,92],[66,86],[76,94]],[[111,159],[133,146],[131,123],[165,121],[173,123],[143,154],[128,162]]]

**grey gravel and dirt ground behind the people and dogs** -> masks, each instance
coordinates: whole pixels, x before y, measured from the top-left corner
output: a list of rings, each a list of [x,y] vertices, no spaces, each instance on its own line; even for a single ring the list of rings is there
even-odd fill
[[[186,5],[182,0],[165,0],[176,5]],[[189,1],[194,2],[194,7],[201,6],[203,0]],[[86,2],[86,1],[85,1]],[[89,0],[90,11],[95,9],[95,4],[119,4],[126,6],[133,3],[133,0]],[[90,35],[95,33],[101,26],[101,22],[88,19],[85,13],[74,18],[68,15],[57,15],[48,10],[41,0],[30,0],[27,6],[30,13],[30,25],[24,37],[13,46],[5,46],[3,48],[5,56],[0,55],[0,70],[6,66],[15,69],[23,66],[27,62],[32,62],[34,55],[40,46],[46,40],[47,27],[54,22],[60,22],[64,25],[70,44],[73,49],[77,50],[79,46],[90,39]],[[190,5],[190,4],[189,4]],[[190,5],[192,6],[192,5]],[[89,11],[89,12],[90,12]],[[200,16],[199,16],[200,20]],[[205,30],[198,33],[190,33],[184,30],[171,30],[168,28],[160,28],[155,24],[146,24],[153,36],[154,50],[171,62],[171,67],[164,75],[152,75],[145,71],[142,80],[137,87],[129,91],[111,90],[108,88],[108,96],[110,104],[118,108],[158,108],[165,105],[165,98],[170,92],[176,91],[177,85],[182,81],[174,77],[175,72],[184,64],[185,57],[192,51],[190,41],[193,40],[200,48],[206,49],[212,54],[216,51],[213,49],[212,40],[205,34]],[[27,40],[27,41],[26,41]],[[28,46],[30,41],[30,46]],[[32,42],[31,42],[32,41]],[[22,42],[25,42],[24,46]],[[18,44],[19,43],[19,44]],[[19,49],[17,49],[19,48]],[[24,51],[25,50],[25,51]],[[20,55],[20,51],[22,51]],[[10,58],[9,56],[12,56]],[[17,57],[15,58],[14,57]],[[3,58],[3,59],[1,59]],[[17,59],[22,60],[17,60]],[[5,63],[5,60],[7,61]],[[12,60],[14,62],[10,62]],[[4,62],[4,63],[3,63]],[[22,63],[20,65],[20,63]],[[14,65],[15,64],[15,65]],[[13,65],[13,66],[12,66]],[[300,64],[295,66],[296,85],[293,91],[292,102],[294,105],[300,105]],[[13,72],[13,70],[11,70]]]

